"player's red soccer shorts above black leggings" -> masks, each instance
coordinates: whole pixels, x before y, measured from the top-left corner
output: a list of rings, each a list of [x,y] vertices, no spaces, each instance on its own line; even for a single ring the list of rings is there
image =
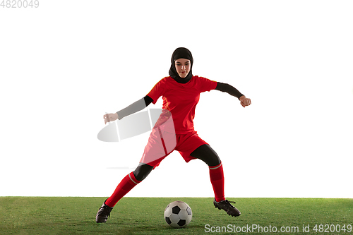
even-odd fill
[[[162,159],[174,150],[180,153],[185,162],[190,162],[192,159],[195,159],[195,157],[191,157],[191,152],[201,145],[207,144],[205,140],[198,136],[196,131],[186,134],[175,134],[153,128],[140,163],[157,167]]]

